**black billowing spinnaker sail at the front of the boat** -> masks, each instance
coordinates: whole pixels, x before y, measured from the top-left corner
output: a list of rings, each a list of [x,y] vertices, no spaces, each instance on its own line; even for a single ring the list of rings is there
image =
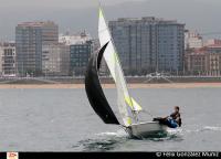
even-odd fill
[[[105,124],[119,125],[119,121],[114,115],[104,95],[98,77],[98,70],[101,66],[102,57],[107,45],[108,42],[99,50],[98,54],[92,54],[85,75],[85,89],[91,106],[93,107],[95,113],[103,119],[103,121]]]

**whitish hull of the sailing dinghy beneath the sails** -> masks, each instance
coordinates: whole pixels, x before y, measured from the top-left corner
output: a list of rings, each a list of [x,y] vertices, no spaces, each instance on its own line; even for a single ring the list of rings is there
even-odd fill
[[[157,132],[165,132],[166,130],[167,126],[160,125],[158,121],[133,124],[127,127],[129,136],[136,138],[145,138]]]

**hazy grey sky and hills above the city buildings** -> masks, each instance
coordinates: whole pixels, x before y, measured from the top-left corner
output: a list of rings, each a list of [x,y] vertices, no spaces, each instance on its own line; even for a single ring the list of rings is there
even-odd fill
[[[60,25],[60,32],[87,30],[92,36],[97,36],[97,1],[78,0],[59,1],[53,3],[48,0],[46,4],[36,4],[36,1],[20,0],[22,3],[4,1],[0,7],[0,41],[14,40],[14,25],[22,21],[52,20]],[[38,1],[39,2],[39,1]],[[186,23],[188,29],[198,30],[201,33],[220,32],[220,22],[215,15],[220,12],[221,2],[217,0],[122,0],[112,2],[102,1],[107,20],[117,18],[158,17],[178,20]],[[124,11],[122,7],[126,7]],[[169,9],[170,7],[173,9]],[[113,12],[113,10],[115,10]],[[187,13],[188,10],[188,13]],[[210,10],[210,12],[207,12]],[[8,17],[6,18],[6,14]],[[203,17],[201,15],[203,14]],[[220,33],[214,34],[220,38]]]

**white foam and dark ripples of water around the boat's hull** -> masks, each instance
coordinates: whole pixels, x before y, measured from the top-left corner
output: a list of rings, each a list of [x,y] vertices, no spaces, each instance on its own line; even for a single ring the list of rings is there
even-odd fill
[[[112,151],[118,150],[122,146],[130,142],[148,142],[148,141],[166,141],[166,140],[182,140],[182,129],[169,129],[166,134],[156,134],[143,139],[130,138],[128,134],[119,129],[116,132],[107,131],[95,134],[91,139],[78,141],[77,146],[73,148],[82,151]]]

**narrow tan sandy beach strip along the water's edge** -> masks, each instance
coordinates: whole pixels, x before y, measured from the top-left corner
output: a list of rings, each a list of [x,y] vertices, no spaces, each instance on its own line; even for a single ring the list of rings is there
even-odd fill
[[[102,84],[104,88],[115,88],[115,84]],[[128,84],[129,88],[221,88],[221,83],[167,83],[167,84]],[[4,88],[85,88],[84,84],[0,84]]]

